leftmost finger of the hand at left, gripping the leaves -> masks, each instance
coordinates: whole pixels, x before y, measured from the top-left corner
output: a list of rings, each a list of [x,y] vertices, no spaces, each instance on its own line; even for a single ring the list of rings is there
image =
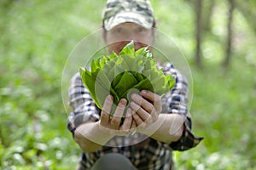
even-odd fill
[[[101,113],[101,122],[100,124],[103,127],[108,126],[108,122],[110,120],[110,111],[113,105],[113,97],[111,95],[108,95],[104,101],[103,107],[102,107],[102,113]]]

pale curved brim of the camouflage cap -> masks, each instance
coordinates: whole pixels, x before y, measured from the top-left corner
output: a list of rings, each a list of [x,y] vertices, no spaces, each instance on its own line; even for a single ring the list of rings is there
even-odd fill
[[[133,12],[124,12],[116,14],[113,17],[110,17],[104,20],[104,26],[107,31],[111,30],[114,26],[125,22],[133,22],[139,26],[150,29],[153,26],[154,19],[153,17],[146,17],[142,14],[136,14]]]

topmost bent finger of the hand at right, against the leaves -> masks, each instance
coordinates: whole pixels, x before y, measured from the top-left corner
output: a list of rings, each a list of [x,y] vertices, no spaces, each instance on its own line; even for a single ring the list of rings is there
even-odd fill
[[[161,112],[162,111],[162,104],[161,104],[161,97],[158,94],[154,94],[153,92],[149,90],[142,90],[141,95],[143,98],[148,99],[149,101],[152,101],[155,111]]]

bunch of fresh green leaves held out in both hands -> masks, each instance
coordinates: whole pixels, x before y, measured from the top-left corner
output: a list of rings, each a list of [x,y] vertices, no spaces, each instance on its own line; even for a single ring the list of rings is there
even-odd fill
[[[80,76],[90,91],[96,105],[102,109],[108,94],[113,95],[113,102],[118,105],[120,99],[128,99],[131,90],[150,90],[163,95],[172,89],[175,78],[165,76],[158,70],[155,59],[147,48],[135,51],[134,43],[128,43],[119,54],[92,60],[90,71],[80,68]]]

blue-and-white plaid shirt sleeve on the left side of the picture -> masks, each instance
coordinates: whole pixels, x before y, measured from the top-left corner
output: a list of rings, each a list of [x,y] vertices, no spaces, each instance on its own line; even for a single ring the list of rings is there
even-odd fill
[[[84,83],[79,76],[75,74],[68,88],[69,102],[72,111],[67,118],[67,128],[73,133],[76,127],[88,121],[96,122],[99,120],[99,109],[91,99],[90,93],[84,87]]]

